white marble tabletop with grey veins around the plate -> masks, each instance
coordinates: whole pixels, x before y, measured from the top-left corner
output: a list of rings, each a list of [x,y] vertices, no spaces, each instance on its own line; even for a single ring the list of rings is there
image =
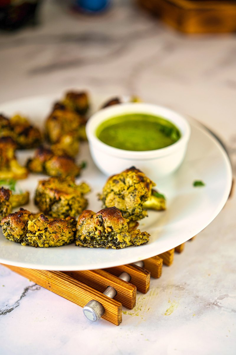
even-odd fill
[[[186,37],[115,1],[96,17],[44,1],[41,24],[0,34],[0,101],[86,88],[137,94],[200,120],[236,164],[236,37]],[[116,327],[0,267],[0,354],[236,353],[233,195]]]

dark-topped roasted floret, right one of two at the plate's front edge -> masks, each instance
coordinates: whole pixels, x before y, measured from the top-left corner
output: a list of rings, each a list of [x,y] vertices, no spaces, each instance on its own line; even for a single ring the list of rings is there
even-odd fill
[[[97,213],[85,210],[77,222],[75,244],[112,249],[146,244],[150,235],[139,229],[129,232],[127,222],[116,207],[101,209]]]

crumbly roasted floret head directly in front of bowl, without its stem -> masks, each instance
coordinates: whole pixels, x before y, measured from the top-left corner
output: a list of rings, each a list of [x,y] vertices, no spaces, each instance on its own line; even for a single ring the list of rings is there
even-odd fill
[[[124,218],[140,220],[147,216],[144,202],[151,197],[154,182],[134,166],[108,178],[100,195],[105,207],[116,206]]]

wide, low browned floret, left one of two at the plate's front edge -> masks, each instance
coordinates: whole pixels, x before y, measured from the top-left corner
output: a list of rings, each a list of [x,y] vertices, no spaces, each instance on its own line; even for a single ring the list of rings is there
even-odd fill
[[[61,246],[74,241],[75,219],[48,219],[20,208],[1,221],[2,232],[11,241],[34,247]]]

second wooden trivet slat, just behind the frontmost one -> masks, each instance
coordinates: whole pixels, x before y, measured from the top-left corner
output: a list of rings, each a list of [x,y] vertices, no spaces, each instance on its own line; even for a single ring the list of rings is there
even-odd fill
[[[136,286],[104,270],[64,271],[63,273],[100,292],[104,292],[108,286],[114,287],[117,294],[113,299],[126,308],[132,309],[136,304]]]

